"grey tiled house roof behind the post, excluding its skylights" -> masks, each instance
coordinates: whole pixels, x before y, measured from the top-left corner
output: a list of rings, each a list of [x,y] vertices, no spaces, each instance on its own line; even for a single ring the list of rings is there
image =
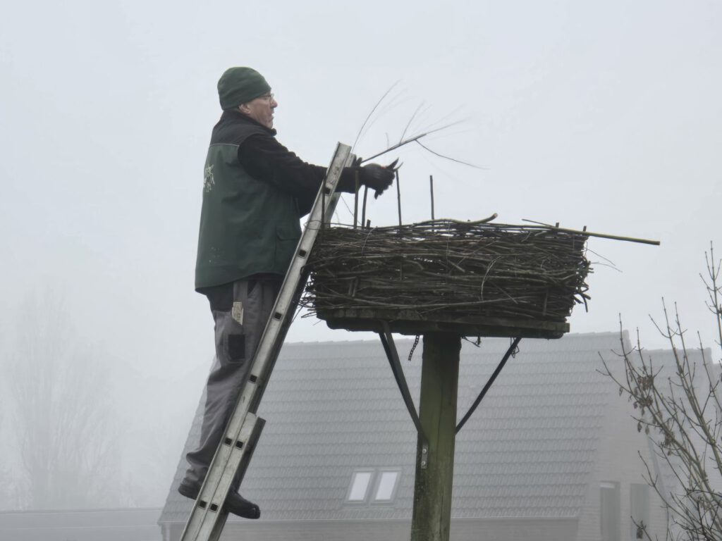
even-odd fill
[[[418,407],[422,343],[398,340]],[[458,418],[509,346],[489,338],[461,352]],[[617,389],[599,374],[599,352],[616,333],[522,340],[456,439],[453,517],[578,516],[596,458],[606,405]],[[199,439],[202,404],[160,522],[185,522],[192,502],[176,492],[188,449]],[[258,410],[264,433],[241,493],[261,521],[408,519],[416,434],[380,342],[292,343],[282,348]],[[400,470],[390,503],[349,503],[357,470]]]

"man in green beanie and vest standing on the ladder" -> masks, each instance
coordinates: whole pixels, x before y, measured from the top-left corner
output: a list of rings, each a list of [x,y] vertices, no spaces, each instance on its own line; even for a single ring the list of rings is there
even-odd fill
[[[280,144],[273,128],[278,102],[258,71],[230,68],[218,82],[220,120],[204,168],[203,205],[196,260],[196,291],[209,301],[216,356],[206,384],[199,447],[186,455],[178,492],[196,499],[225,426],[243,389],[266,321],[326,175]],[[337,190],[353,193],[355,178],[378,196],[391,185],[393,166],[343,170]],[[238,493],[225,509],[247,519],[261,511]]]

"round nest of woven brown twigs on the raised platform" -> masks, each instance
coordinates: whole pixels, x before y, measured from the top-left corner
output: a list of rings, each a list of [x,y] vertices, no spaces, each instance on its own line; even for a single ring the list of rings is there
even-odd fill
[[[422,320],[504,317],[564,322],[589,298],[586,234],[547,226],[425,221],[322,229],[302,304],[414,312]]]

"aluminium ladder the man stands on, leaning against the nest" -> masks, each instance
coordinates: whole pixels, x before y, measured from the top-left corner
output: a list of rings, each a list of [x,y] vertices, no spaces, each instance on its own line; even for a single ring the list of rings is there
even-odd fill
[[[338,144],[334,158],[326,172],[326,179],[316,195],[308,223],[299,239],[295,256],[282,283],[279,295],[266,323],[266,328],[256,349],[251,375],[238,397],[225,434],[212,459],[206,479],[199,496],[183,529],[181,541],[212,541],[217,540],[222,532],[227,513],[222,511],[230,484],[238,471],[244,456],[246,464],[255,446],[253,438],[258,439],[263,420],[256,417],[255,412],[266,388],[268,378],[278,358],[283,340],[292,321],[295,307],[303,293],[308,271],[305,262],[318,236],[318,230],[324,216],[331,216],[335,210],[338,194],[335,193],[346,164],[351,161],[350,147]],[[250,414],[250,416],[249,416]],[[261,421],[260,428],[254,428],[256,421]],[[255,436],[253,436],[255,435]],[[245,467],[243,468],[245,472]]]

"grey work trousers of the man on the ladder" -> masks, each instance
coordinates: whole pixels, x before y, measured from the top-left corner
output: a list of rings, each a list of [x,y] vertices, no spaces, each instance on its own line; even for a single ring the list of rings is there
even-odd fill
[[[206,384],[206,405],[199,447],[186,454],[183,483],[200,484],[220,443],[243,385],[248,379],[258,342],[281,289],[282,277],[255,275],[206,288],[215,322],[216,357]],[[237,482],[232,489],[238,491]]]

